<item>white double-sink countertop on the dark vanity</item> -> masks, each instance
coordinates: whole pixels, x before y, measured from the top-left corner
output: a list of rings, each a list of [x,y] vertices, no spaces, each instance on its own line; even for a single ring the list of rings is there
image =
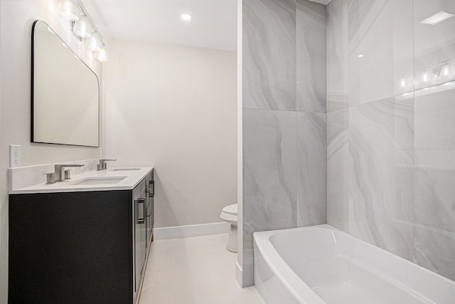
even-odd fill
[[[127,170],[132,168],[138,169]],[[92,170],[75,174],[71,179],[63,182],[55,182],[53,184],[41,183],[19,189],[12,189],[9,194],[130,190],[134,189],[134,187],[136,187],[152,169],[153,167],[109,167],[105,170]],[[93,177],[124,177],[124,179],[114,184],[77,184],[84,179]]]

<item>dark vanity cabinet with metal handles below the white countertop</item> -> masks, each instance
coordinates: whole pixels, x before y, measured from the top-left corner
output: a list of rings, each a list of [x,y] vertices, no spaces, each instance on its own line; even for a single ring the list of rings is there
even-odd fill
[[[134,303],[152,174],[130,190],[10,194],[9,303]]]

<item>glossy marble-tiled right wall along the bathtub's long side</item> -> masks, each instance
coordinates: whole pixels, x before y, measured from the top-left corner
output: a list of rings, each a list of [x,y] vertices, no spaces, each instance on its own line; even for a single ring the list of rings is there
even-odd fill
[[[326,9],[328,224],[454,280],[455,2]]]

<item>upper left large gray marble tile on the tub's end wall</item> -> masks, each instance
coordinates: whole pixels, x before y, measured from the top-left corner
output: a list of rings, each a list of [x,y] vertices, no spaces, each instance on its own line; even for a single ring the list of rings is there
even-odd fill
[[[296,0],[243,1],[243,108],[296,109]]]

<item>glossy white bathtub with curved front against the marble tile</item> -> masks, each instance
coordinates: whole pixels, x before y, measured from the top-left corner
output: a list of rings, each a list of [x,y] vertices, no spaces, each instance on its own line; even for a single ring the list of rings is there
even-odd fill
[[[328,225],[255,232],[254,242],[267,304],[455,303],[454,281]]]

